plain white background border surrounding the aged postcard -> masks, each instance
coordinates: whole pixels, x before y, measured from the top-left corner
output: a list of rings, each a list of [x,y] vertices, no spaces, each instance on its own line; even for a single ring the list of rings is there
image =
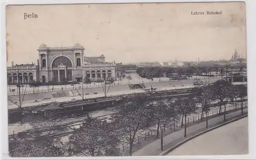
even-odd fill
[[[172,1],[172,0],[148,0],[148,1],[136,1],[136,0],[62,0],[61,2],[58,0],[13,0],[13,1],[2,1],[1,5],[1,83],[0,85],[0,102],[1,102],[1,153],[3,159],[254,159],[256,157],[256,98],[254,94],[256,93],[256,83],[254,83],[254,79],[256,79],[256,74],[254,72],[254,68],[256,68],[256,1],[255,0],[244,0],[246,3],[246,25],[247,25],[247,76],[248,76],[248,105],[249,105],[249,154],[248,155],[226,155],[226,156],[141,156],[141,157],[38,157],[38,158],[12,158],[8,156],[8,110],[7,110],[7,79],[6,77],[6,13],[5,8],[7,5],[25,5],[25,4],[92,4],[92,3],[167,3],[167,2],[241,2],[241,1],[210,1],[210,0],[180,0],[180,1]],[[18,26],[17,26],[18,27]],[[235,34],[235,33],[234,33]]]

